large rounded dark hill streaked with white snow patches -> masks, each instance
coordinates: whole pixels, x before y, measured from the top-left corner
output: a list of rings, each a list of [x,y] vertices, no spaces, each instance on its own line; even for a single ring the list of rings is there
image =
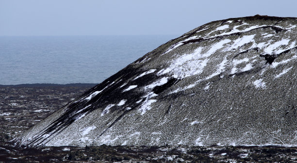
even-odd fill
[[[27,146],[297,145],[297,18],[202,25],[18,138]]]

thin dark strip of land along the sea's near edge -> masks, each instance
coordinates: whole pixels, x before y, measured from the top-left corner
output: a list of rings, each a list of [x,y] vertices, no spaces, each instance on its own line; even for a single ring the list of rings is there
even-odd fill
[[[68,84],[54,84],[54,83],[32,83],[32,84],[16,84],[16,85],[1,85],[0,87],[93,87],[99,83],[68,83]]]

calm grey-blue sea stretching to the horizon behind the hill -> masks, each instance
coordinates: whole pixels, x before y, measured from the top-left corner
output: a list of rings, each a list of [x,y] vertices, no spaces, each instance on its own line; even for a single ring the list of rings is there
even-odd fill
[[[1,36],[0,84],[100,83],[176,37]]]

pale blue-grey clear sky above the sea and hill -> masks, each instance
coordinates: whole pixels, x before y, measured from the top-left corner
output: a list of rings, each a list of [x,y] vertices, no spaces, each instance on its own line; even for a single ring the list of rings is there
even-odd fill
[[[230,17],[297,17],[297,0],[0,0],[0,35],[181,35]]]

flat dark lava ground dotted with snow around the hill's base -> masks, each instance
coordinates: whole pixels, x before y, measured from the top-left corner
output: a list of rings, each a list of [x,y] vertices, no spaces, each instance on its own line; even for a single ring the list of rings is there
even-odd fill
[[[296,147],[106,146],[16,147],[12,138],[90,86],[0,87],[0,163],[293,163]]]

